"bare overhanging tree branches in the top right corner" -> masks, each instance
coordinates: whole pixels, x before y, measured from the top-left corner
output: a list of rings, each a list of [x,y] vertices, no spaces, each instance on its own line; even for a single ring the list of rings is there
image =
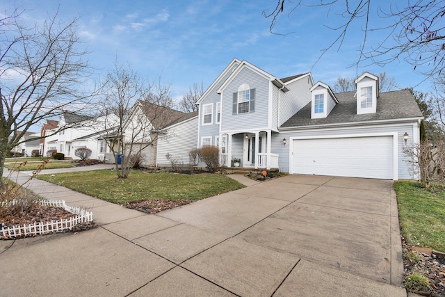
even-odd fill
[[[442,74],[445,66],[444,0],[387,1],[378,4],[371,0],[318,3],[275,0],[275,3],[274,8],[263,12],[264,17],[272,19],[271,32],[285,11],[291,15],[305,13],[305,9],[316,9],[319,15],[326,16],[323,25],[336,31],[337,35],[334,35],[330,45],[322,49],[321,56],[334,46],[340,49],[348,31],[361,28],[363,35],[357,67],[364,61],[387,65],[403,59],[427,78]],[[380,42],[370,42],[371,36],[379,38]]]

